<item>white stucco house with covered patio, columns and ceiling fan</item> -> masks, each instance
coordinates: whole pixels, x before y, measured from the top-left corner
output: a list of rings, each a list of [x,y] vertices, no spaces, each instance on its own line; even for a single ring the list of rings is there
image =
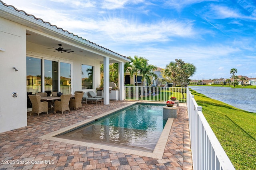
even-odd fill
[[[119,64],[119,99],[124,100],[128,57],[26,14],[0,0],[0,133],[27,125],[27,94],[45,91],[96,91],[104,64]],[[104,93],[108,105],[110,94]]]

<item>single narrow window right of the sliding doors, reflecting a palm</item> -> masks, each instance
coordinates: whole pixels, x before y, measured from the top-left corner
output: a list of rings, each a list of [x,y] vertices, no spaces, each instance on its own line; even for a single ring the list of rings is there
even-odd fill
[[[82,89],[92,89],[94,67],[82,64]]]

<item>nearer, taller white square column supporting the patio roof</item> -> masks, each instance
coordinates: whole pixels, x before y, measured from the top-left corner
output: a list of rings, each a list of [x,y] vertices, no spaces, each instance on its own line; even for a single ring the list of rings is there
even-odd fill
[[[103,90],[104,90],[104,105],[109,104],[109,57],[104,57],[104,83],[103,83]]]

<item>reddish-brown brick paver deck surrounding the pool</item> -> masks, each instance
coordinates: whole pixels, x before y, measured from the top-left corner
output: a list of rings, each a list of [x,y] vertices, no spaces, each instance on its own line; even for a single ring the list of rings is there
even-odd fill
[[[39,137],[125,106],[129,101],[83,104],[71,113],[46,113],[29,116],[28,126],[0,133],[0,170],[192,170],[188,113],[180,103],[162,159],[84,147]],[[79,144],[79,143],[78,143]]]

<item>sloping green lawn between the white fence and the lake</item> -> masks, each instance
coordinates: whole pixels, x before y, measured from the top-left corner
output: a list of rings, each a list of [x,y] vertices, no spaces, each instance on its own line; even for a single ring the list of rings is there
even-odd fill
[[[256,113],[190,91],[234,167],[256,170]]]

